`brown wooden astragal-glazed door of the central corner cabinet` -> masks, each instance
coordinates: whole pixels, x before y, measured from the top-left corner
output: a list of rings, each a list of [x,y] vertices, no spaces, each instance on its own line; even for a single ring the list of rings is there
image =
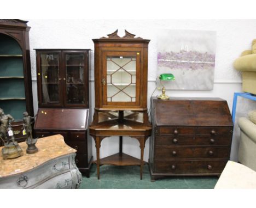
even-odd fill
[[[139,106],[140,55],[136,51],[103,52],[103,105]]]

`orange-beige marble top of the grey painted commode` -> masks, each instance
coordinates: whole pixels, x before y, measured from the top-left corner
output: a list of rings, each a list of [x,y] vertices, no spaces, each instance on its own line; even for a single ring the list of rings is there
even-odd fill
[[[34,154],[26,153],[26,142],[21,142],[19,145],[24,155],[8,160],[3,160],[3,146],[0,147],[0,179],[27,172],[28,170],[36,168],[49,160],[53,160],[64,155],[69,155],[77,151],[64,142],[64,138],[61,136],[61,134],[38,139],[36,143],[38,152]]]

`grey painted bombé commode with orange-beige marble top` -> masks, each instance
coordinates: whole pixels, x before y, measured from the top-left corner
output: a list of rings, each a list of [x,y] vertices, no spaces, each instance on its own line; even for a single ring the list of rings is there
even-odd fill
[[[74,162],[73,148],[60,134],[38,139],[38,152],[13,160],[0,157],[0,188],[79,188],[82,174]],[[0,150],[2,147],[0,148]]]

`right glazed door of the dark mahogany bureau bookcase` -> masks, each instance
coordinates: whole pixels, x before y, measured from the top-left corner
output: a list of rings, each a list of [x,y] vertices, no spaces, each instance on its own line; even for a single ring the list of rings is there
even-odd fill
[[[88,51],[63,52],[65,107],[89,107]]]

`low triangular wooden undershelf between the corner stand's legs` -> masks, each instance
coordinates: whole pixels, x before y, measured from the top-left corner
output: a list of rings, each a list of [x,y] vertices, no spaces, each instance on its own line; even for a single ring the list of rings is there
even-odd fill
[[[147,164],[147,162],[143,162],[144,164]],[[97,164],[97,161],[95,160],[94,163]],[[124,153],[117,153],[101,158],[100,165],[102,166],[103,164],[111,164],[113,166],[139,166],[141,165],[141,160]]]

